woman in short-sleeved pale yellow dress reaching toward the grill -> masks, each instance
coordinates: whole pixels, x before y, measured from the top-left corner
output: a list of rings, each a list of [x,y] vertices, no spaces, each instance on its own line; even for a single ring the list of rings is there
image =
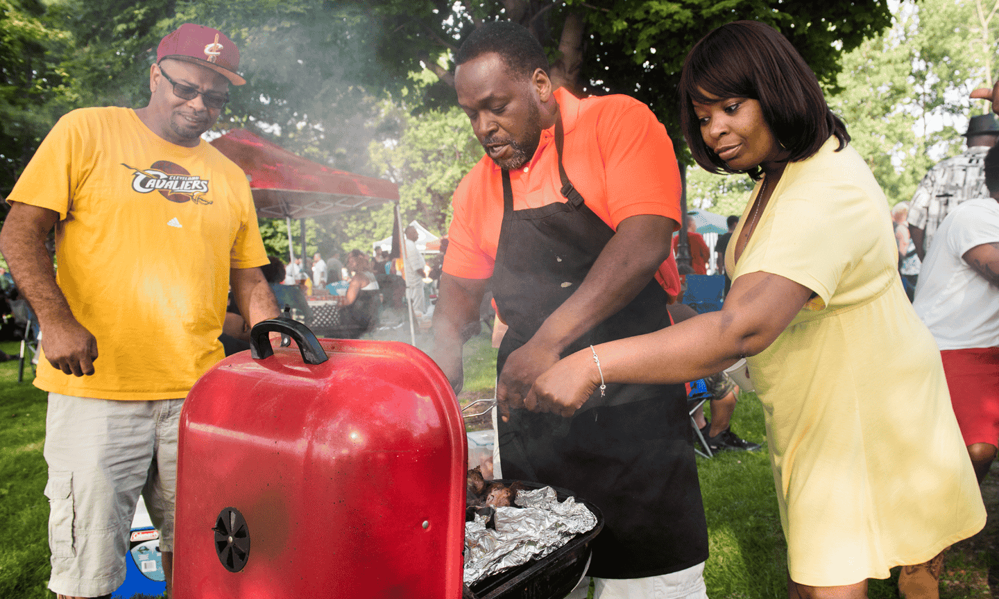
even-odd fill
[[[573,353],[525,404],[568,415],[601,380],[693,380],[744,356],[766,413],[788,596],[866,597],[868,578],[899,565],[909,599],[938,596],[941,552],[979,531],[985,508],[940,353],[898,277],[884,194],[769,26],[705,36],[680,98],[697,163],[758,181],[725,256],[724,307]]]

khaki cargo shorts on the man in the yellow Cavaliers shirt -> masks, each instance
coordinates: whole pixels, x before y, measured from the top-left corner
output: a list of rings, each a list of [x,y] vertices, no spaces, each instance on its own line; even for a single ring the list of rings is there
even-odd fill
[[[107,595],[125,581],[139,495],[173,551],[177,435],[184,399],[113,400],[49,393],[49,589]]]

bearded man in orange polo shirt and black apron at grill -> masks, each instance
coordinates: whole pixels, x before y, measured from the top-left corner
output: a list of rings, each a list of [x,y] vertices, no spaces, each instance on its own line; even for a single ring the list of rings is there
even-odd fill
[[[461,333],[491,284],[509,326],[497,364],[503,476],[602,510],[597,596],[702,597],[707,533],[682,385],[606,385],[568,417],[524,403],[559,356],[669,325],[680,183],[666,131],[631,98],[553,90],[543,50],[509,22],[480,27],[456,63],[459,104],[487,156],[455,193],[438,363],[460,389]]]

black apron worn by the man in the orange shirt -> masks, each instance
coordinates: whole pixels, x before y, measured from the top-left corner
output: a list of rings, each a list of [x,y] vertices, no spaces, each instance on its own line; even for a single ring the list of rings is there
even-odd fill
[[[567,203],[514,211],[509,173],[502,173],[503,219],[492,288],[509,329],[500,344],[498,373],[506,356],[578,289],[614,235],[572,188],[562,168],[562,140],[559,115],[555,151]],[[668,326],[666,301],[653,279],[562,356]],[[707,559],[681,384],[607,384],[605,396],[594,392],[570,418],[512,409],[508,422],[500,419],[500,463],[503,478],[564,487],[600,508],[605,523],[593,541],[590,576],[657,576]]]

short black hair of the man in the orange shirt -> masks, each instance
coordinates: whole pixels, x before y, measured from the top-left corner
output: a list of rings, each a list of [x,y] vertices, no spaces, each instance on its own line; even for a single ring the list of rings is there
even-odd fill
[[[499,54],[503,64],[516,77],[530,77],[537,69],[548,71],[544,48],[529,31],[511,21],[484,23],[473,31],[458,49],[455,66],[490,52]]]

